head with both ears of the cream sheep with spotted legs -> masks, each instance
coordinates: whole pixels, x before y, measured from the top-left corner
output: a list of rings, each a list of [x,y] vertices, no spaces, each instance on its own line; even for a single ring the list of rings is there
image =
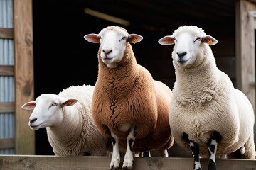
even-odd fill
[[[166,35],[159,41],[161,45],[174,45],[172,57],[180,67],[193,67],[201,64],[205,47],[217,44],[218,40],[206,35],[197,26],[181,26],[172,35]]]

